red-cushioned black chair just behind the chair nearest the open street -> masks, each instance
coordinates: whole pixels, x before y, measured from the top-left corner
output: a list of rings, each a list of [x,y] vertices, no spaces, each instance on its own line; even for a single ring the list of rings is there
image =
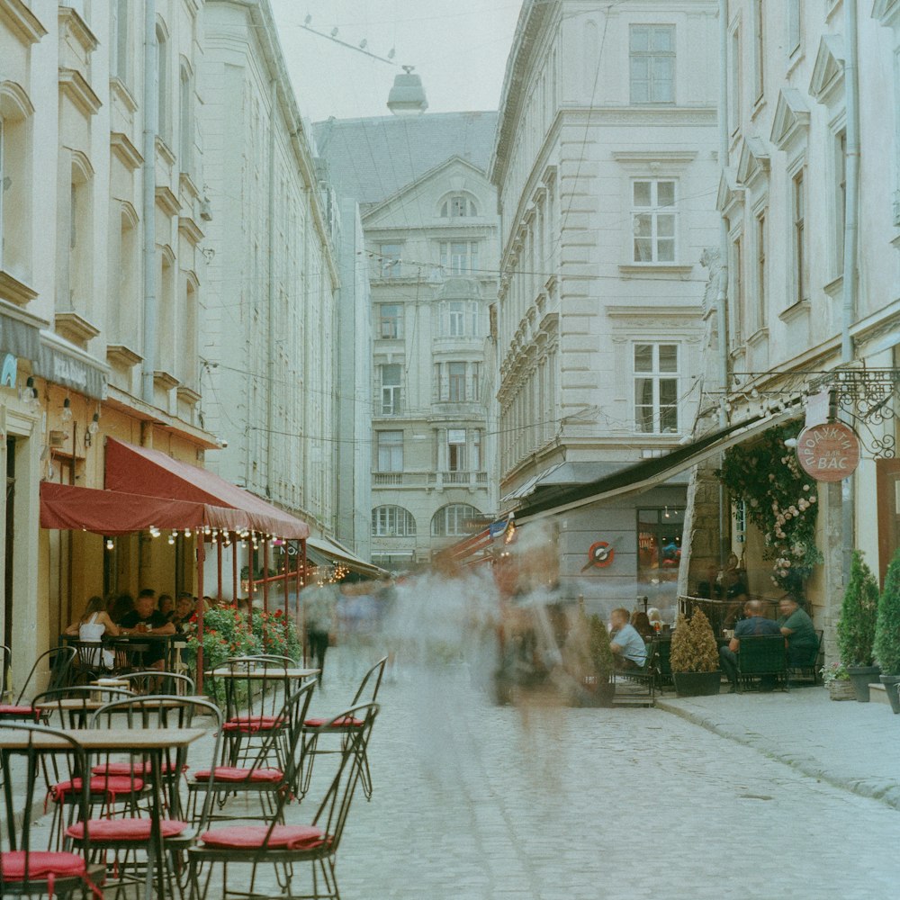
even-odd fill
[[[315,688],[316,682],[311,681],[296,689],[277,712],[277,716],[285,721],[298,724],[289,727],[285,733],[287,744],[283,750],[286,761],[284,769],[271,764],[271,743],[281,740],[282,735],[269,732],[255,755],[242,761],[241,765],[231,764],[229,749],[222,743],[221,760],[214,767],[191,772],[187,779],[187,789],[193,822],[201,818],[197,806],[199,797],[203,795],[213,795],[215,798],[215,806],[207,820],[251,819],[271,822],[276,815],[280,815],[284,808],[284,804],[279,803],[281,797],[292,799],[294,785],[299,781],[298,773],[302,766],[302,754],[298,756],[297,752],[301,735],[299,723],[309,710]],[[238,797],[244,802],[241,808],[238,808]],[[248,806],[250,803],[254,806]]]

